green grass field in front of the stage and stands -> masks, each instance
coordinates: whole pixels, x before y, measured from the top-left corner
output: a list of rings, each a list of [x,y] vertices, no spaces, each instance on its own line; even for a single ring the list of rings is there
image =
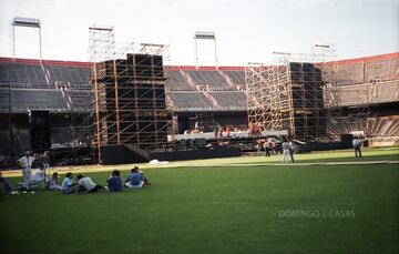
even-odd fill
[[[399,160],[399,148],[364,154]],[[399,164],[228,165],[279,159],[145,169],[153,185],[122,193],[1,197],[0,253],[399,253]],[[104,184],[109,173],[89,175]]]

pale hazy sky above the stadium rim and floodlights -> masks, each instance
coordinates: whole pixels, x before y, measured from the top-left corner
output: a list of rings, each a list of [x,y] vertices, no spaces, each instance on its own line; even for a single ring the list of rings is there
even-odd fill
[[[0,0],[0,57],[12,57],[13,17],[38,18],[43,59],[88,61],[89,27],[119,44],[168,44],[168,64],[194,65],[196,31],[216,34],[218,65],[268,62],[273,52],[335,44],[337,59],[399,51],[399,0]],[[38,30],[16,28],[16,57],[39,58]],[[197,41],[200,65],[214,42]]]

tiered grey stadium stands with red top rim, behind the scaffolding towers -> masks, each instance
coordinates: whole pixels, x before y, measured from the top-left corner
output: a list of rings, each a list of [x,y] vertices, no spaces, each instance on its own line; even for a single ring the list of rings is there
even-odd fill
[[[359,133],[375,143],[398,142],[399,53],[336,63],[335,82],[323,96],[325,135]],[[196,124],[204,132],[248,126],[244,67],[168,65],[164,73],[168,133],[182,134]],[[33,111],[49,112],[52,148],[92,143],[89,79],[88,62],[0,58],[0,154],[31,149]]]

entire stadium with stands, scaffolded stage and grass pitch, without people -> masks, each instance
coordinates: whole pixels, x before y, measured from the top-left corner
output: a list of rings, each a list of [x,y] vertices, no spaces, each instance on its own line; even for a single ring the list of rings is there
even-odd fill
[[[216,34],[198,31],[215,65],[177,65],[165,44],[88,33],[90,61],[41,59],[41,44],[38,59],[0,58],[2,253],[398,252],[399,52],[338,60],[324,43],[218,65]],[[282,163],[286,140],[295,163]],[[27,151],[33,171],[49,166],[31,189]],[[133,166],[152,184],[45,187],[54,172],[106,185]]]

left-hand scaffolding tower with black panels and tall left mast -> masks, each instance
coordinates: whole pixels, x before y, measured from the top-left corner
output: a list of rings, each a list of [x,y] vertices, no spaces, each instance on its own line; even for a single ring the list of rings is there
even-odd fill
[[[115,50],[113,28],[90,28],[90,83],[93,88],[93,143],[158,149],[167,142],[164,59],[167,47],[133,43]]]

